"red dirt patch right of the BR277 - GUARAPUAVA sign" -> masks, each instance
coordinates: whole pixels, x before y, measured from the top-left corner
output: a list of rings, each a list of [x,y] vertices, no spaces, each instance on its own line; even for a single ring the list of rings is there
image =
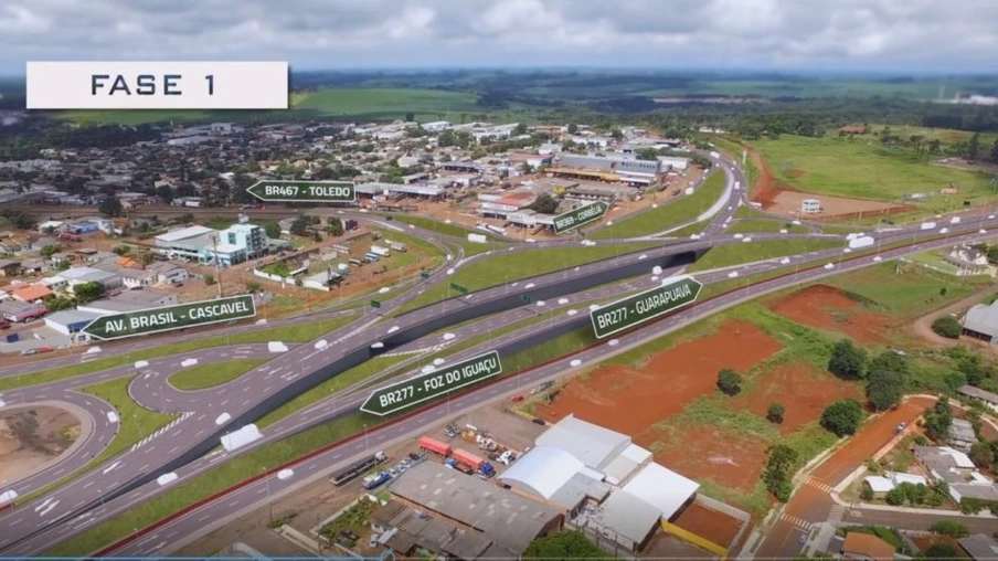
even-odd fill
[[[769,303],[781,316],[817,329],[841,331],[859,343],[885,342],[883,334],[893,329],[886,316],[862,310],[862,305],[838,288],[809,286]]]

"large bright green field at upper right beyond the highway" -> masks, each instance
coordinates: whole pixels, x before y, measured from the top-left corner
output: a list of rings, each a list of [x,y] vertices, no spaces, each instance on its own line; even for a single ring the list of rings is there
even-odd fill
[[[781,184],[815,194],[903,202],[905,194],[936,193],[919,201],[930,211],[957,210],[963,201],[994,200],[996,189],[985,173],[928,163],[907,148],[883,148],[870,137],[857,141],[783,135],[753,142]],[[959,194],[938,194],[948,186]]]

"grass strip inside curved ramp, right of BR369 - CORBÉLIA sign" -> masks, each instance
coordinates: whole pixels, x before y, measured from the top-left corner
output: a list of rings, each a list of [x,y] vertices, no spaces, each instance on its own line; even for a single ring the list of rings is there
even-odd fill
[[[591,240],[609,240],[616,237],[635,237],[654,234],[678,226],[710,209],[724,192],[724,173],[715,171],[693,194],[659,204],[631,218],[614,221],[611,226],[588,234]]]

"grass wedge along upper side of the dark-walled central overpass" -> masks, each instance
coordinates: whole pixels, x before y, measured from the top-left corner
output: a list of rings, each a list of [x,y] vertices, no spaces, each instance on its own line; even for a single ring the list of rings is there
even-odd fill
[[[467,288],[469,292],[481,290],[490,286],[511,283],[555,271],[575,267],[584,263],[605,260],[625,253],[654,247],[654,244],[628,244],[580,247],[555,247],[516,253],[500,253],[481,261],[470,263],[457,269],[448,282],[428,288],[408,304],[401,307],[396,315],[416,309],[421,306],[447,298],[448,293],[459,296],[449,289],[452,283]]]

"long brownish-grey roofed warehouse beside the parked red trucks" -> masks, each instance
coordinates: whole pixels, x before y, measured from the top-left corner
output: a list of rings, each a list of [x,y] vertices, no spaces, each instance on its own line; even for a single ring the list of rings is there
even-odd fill
[[[411,467],[389,490],[403,504],[481,532],[514,555],[522,554],[534,539],[560,529],[564,521],[552,507],[435,462]]]

